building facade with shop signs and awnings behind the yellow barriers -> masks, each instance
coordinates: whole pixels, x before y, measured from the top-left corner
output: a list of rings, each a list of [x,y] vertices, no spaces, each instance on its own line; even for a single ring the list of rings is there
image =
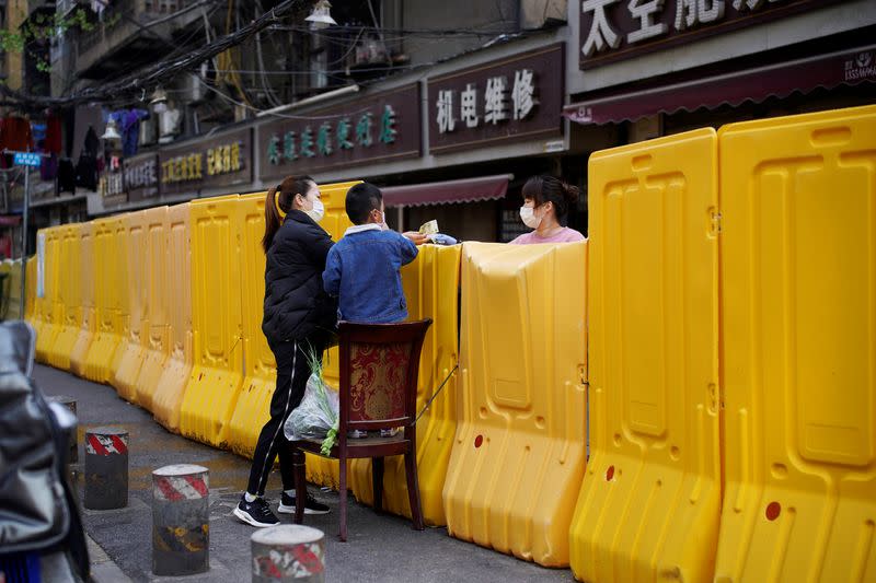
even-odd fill
[[[272,5],[195,4],[107,2],[90,31],[53,46],[53,91],[233,32],[246,10]],[[876,96],[869,0],[353,4],[333,7],[328,28],[311,30],[307,11],[284,19],[166,82],[163,101],[66,112],[77,184],[36,180],[34,226],[309,174],[383,187],[393,228],[435,219],[459,240],[509,241],[526,231],[522,184],[546,173],[580,187],[568,222],[586,233],[593,151]],[[100,139],[111,118],[120,143]],[[103,162],[80,186],[88,149]]]

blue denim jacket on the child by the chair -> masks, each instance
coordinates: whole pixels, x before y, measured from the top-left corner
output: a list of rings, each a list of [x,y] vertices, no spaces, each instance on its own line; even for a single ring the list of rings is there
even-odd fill
[[[328,252],[323,285],[338,298],[337,316],[361,324],[391,324],[407,317],[402,290],[403,265],[413,261],[417,247],[394,231],[358,225]]]

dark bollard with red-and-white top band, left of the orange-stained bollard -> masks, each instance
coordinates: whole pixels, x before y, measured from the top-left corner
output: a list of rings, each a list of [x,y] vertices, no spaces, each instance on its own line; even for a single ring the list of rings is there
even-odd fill
[[[128,505],[128,432],[95,428],[85,432],[85,508]]]

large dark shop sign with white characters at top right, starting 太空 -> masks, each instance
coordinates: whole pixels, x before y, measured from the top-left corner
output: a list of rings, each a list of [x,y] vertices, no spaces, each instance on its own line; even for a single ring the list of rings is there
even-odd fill
[[[581,0],[579,68],[591,69],[842,0]]]

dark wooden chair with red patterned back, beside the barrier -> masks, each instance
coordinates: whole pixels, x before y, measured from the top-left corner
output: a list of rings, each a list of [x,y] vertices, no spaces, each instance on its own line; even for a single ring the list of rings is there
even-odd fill
[[[407,495],[414,528],[423,530],[417,480],[417,376],[423,339],[431,319],[404,324],[338,324],[341,410],[337,443],[330,457],[341,462],[341,540],[347,539],[347,459],[370,457],[374,510],[383,499],[383,457],[404,455]],[[348,439],[353,430],[404,428],[391,438]],[[322,455],[319,440],[292,442],[296,471],[296,524],[304,517],[307,482],[304,452]]]

